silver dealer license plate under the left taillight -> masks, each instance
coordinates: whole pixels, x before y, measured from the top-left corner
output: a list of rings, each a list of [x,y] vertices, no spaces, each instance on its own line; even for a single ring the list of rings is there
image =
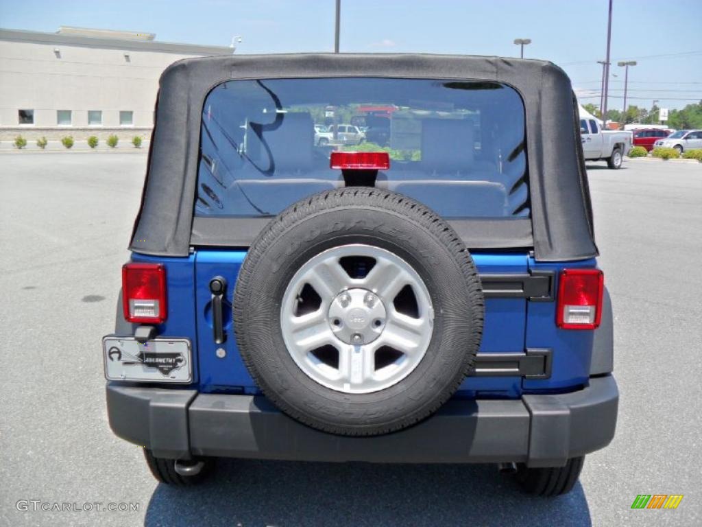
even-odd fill
[[[105,378],[109,381],[192,382],[190,339],[102,337]]]

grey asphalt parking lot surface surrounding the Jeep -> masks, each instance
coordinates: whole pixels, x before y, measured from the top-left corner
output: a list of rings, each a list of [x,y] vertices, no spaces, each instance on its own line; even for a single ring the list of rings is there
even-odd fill
[[[112,435],[100,338],[138,209],[145,152],[0,154],[0,525],[702,525],[702,164],[588,164],[615,310],[614,442],[564,497],[493,466],[227,461],[192,490],[157,485]],[[637,494],[683,494],[632,510]],[[20,512],[18,500],[138,512]]]

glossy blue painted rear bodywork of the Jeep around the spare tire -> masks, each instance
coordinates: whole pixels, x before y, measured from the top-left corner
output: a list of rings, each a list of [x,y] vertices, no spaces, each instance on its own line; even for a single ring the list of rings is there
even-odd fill
[[[193,343],[194,384],[204,393],[259,393],[246,370],[232,324],[232,296],[244,250],[199,250],[187,258],[163,258],[133,253],[132,261],[164,263],[168,284],[168,319],[159,334],[187,337]],[[594,259],[562,263],[536,263],[527,254],[476,252],[473,258],[481,273],[527,273],[562,268],[597,266]],[[216,344],[213,335],[209,282],[227,280],[225,302],[226,341]],[[557,291],[557,283],[555,285]],[[523,352],[527,348],[553,351],[550,379],[521,377],[469,377],[456,398],[519,398],[522,393],[572,391],[587,384],[592,355],[592,331],[559,330],[555,324],[555,301],[486,299],[481,353]],[[216,351],[225,350],[219,358]]]

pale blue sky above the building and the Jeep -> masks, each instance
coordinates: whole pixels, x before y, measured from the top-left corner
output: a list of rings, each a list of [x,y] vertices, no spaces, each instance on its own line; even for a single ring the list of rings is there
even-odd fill
[[[0,27],[54,32],[60,25],[133,30],[157,40],[227,46],[237,53],[332,51],[334,0],[0,0]],[[702,99],[702,0],[614,0],[609,108],[668,108]],[[525,56],[564,67],[599,105],[607,0],[342,0],[341,51]],[[592,90],[590,92],[589,90]]]

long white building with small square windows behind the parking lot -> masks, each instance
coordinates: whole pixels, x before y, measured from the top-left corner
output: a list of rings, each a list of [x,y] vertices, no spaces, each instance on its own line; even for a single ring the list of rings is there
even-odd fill
[[[77,27],[55,33],[0,30],[0,140],[149,137],[166,66],[234,52],[154,37]]]

